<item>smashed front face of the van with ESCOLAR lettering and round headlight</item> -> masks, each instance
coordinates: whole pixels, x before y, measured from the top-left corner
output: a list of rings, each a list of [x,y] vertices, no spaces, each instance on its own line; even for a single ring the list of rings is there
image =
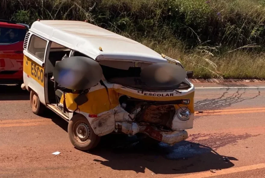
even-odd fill
[[[181,92],[147,94],[137,91],[135,94],[135,90],[126,91],[125,87],[117,88],[114,91],[118,92],[119,105],[113,109],[115,132],[128,135],[144,133],[170,145],[185,140],[188,137],[186,129],[193,127],[194,120],[192,87]]]

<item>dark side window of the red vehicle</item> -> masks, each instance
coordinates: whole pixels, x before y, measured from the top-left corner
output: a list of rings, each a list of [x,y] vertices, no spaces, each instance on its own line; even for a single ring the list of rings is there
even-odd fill
[[[26,29],[16,29],[0,26],[0,45],[24,41],[26,32]]]

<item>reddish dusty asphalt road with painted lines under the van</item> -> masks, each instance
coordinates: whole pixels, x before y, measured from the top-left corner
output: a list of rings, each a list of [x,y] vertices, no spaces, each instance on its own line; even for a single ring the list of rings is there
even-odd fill
[[[112,135],[82,152],[70,143],[66,121],[49,111],[34,115],[26,91],[2,85],[0,177],[265,177],[265,83],[195,87],[195,109],[203,112],[186,141],[150,148]]]

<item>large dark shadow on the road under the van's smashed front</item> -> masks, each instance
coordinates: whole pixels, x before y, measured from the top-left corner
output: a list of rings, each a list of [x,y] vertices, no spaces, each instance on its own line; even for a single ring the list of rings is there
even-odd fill
[[[226,169],[234,164],[228,160],[233,157],[219,155],[208,146],[195,142],[182,141],[174,146],[160,143],[147,146],[137,138],[123,135],[107,135],[90,154],[102,158],[95,159],[104,166],[114,170],[133,170],[137,173],[181,174]]]

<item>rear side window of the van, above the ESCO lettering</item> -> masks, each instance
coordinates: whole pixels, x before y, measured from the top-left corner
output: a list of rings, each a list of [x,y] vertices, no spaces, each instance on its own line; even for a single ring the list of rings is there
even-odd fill
[[[46,45],[46,40],[39,38],[38,36],[32,35],[30,38],[28,52],[38,57],[41,61],[44,61]]]

